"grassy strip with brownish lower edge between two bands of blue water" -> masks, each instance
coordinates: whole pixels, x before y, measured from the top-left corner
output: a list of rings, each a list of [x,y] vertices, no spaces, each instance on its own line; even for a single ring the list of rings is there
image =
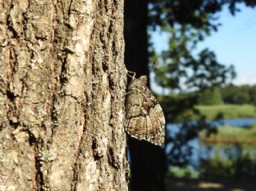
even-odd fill
[[[248,128],[234,126],[220,126],[218,133],[207,136],[206,132],[199,133],[199,138],[204,142],[225,144],[251,144],[256,143],[256,125]]]

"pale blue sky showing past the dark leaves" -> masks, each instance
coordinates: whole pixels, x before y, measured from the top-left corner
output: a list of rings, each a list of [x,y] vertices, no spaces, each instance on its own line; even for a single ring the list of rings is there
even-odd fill
[[[256,8],[239,6],[241,12],[232,16],[227,8],[219,15],[222,26],[218,31],[198,44],[198,50],[208,47],[217,56],[218,62],[234,65],[237,78],[234,83],[256,83]],[[157,51],[166,50],[167,34],[153,35]]]

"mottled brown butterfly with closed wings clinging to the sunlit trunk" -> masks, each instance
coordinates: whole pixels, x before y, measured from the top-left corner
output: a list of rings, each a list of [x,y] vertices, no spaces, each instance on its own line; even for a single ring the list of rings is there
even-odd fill
[[[146,76],[134,78],[126,96],[126,132],[131,137],[162,145],[166,120],[161,106],[146,86]]]

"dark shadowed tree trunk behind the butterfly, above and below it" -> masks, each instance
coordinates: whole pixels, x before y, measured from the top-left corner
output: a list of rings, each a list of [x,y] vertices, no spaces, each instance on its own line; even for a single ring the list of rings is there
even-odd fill
[[[128,70],[139,76],[148,72],[146,0],[125,1],[125,62]],[[130,189],[132,191],[165,190],[166,157],[164,150],[146,141],[129,137]]]

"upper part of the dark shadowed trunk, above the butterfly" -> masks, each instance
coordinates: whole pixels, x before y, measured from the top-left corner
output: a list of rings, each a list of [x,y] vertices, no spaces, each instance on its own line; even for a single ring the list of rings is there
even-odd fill
[[[125,62],[128,70],[136,72],[137,77],[148,76],[149,54],[147,51],[147,1],[125,1]]]

